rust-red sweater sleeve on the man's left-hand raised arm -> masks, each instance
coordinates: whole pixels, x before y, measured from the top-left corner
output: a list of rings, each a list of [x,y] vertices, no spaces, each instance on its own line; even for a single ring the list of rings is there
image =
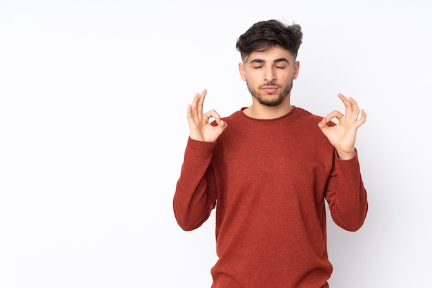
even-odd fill
[[[210,165],[214,142],[188,139],[173,199],[177,223],[186,231],[197,229],[215,208],[215,176]]]

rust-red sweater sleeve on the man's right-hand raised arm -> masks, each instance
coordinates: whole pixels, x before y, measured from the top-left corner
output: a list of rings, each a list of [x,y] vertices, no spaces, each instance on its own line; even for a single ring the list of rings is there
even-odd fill
[[[343,229],[357,231],[368,211],[357,153],[351,160],[340,160],[336,153],[333,171],[326,187],[326,200],[333,221]]]

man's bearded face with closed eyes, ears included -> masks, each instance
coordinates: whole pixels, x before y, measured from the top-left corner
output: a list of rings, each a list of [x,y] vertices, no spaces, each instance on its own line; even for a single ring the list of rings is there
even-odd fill
[[[242,79],[259,104],[277,106],[290,94],[300,63],[279,46],[264,52],[252,52],[239,64]]]

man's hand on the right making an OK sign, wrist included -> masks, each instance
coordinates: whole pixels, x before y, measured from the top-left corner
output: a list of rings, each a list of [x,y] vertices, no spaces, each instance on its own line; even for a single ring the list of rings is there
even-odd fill
[[[333,111],[323,118],[318,124],[322,133],[326,135],[330,143],[335,146],[337,155],[342,160],[348,160],[355,155],[355,136],[357,129],[366,121],[366,113],[360,111],[357,102],[351,97],[348,99],[342,95],[337,95],[345,105],[345,115],[339,111]],[[362,114],[358,119],[359,114]],[[331,119],[337,118],[339,121],[335,126],[328,126]]]

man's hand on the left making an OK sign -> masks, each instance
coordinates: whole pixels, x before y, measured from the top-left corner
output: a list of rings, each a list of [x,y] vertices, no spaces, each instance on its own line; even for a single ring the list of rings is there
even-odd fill
[[[215,142],[217,137],[224,132],[227,124],[220,115],[213,109],[203,113],[204,99],[207,90],[204,89],[199,95],[195,94],[192,104],[188,105],[188,123],[190,129],[190,138],[197,141]],[[215,118],[217,126],[212,126],[208,120]]]

